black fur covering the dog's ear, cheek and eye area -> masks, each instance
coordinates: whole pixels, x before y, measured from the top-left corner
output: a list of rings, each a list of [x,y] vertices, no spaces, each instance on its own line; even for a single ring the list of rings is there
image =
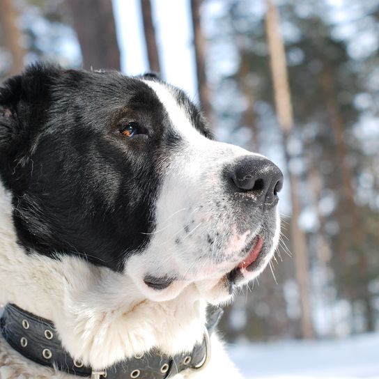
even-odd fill
[[[178,98],[208,134],[196,107]],[[141,134],[121,134],[130,121]],[[155,229],[162,162],[180,144],[168,125],[150,87],[118,72],[34,65],[8,79],[0,89],[0,176],[20,244],[122,270]]]

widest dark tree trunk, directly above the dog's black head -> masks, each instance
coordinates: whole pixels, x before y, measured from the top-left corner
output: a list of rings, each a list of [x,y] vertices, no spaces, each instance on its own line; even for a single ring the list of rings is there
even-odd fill
[[[87,70],[120,70],[116,26],[111,0],[66,0]]]

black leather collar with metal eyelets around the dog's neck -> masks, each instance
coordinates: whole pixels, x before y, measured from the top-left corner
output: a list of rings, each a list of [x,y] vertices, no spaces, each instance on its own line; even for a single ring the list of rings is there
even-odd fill
[[[141,357],[118,362],[104,371],[94,371],[72,359],[62,347],[51,321],[24,311],[15,304],[6,305],[0,319],[0,329],[10,346],[24,357],[75,376],[90,376],[93,379],[166,379],[185,369],[196,370],[205,365],[210,355],[209,334],[222,313],[220,308],[208,311],[203,342],[194,346],[189,353],[169,357],[153,349]]]

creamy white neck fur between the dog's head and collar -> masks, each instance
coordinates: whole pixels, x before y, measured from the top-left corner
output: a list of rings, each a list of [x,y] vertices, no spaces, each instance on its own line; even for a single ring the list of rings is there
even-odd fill
[[[27,254],[17,244],[0,183],[0,304],[52,320],[75,359],[102,369],[153,347],[176,354],[203,339],[206,304],[194,286],[167,302],[144,298],[130,277],[84,258]]]

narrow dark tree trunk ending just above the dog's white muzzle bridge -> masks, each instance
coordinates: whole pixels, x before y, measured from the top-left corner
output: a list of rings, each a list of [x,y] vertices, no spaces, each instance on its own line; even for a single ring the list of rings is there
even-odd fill
[[[206,40],[201,32],[200,24],[201,0],[191,0],[192,28],[194,33],[194,49],[196,59],[197,88],[201,110],[212,124],[212,106],[210,105],[210,91],[206,79]]]

